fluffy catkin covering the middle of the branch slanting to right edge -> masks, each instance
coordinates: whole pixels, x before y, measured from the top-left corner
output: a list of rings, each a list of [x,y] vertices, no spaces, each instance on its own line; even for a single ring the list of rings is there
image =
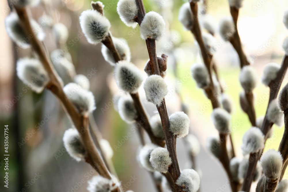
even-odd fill
[[[242,138],[243,154],[255,153],[264,148],[264,134],[257,127],[248,129]]]

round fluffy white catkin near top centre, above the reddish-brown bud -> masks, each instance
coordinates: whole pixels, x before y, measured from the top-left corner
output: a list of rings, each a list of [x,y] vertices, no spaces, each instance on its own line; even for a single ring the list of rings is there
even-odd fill
[[[142,39],[155,39],[159,41],[164,35],[165,21],[162,16],[154,11],[148,12],[141,23],[140,33]]]

